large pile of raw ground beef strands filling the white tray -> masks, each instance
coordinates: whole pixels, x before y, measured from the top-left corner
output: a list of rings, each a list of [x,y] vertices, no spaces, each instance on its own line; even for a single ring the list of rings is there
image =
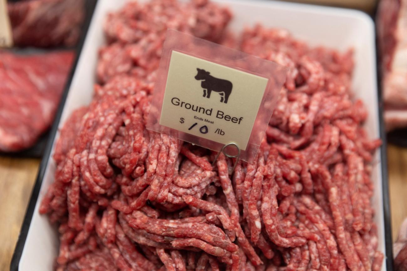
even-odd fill
[[[55,147],[40,212],[59,224],[57,270],[381,269],[370,205],[367,112],[350,95],[352,52],[282,29],[233,39],[205,0],[129,2],[104,25],[98,84]],[[289,67],[256,161],[146,130],[166,28]],[[226,37],[226,38],[225,38]]]

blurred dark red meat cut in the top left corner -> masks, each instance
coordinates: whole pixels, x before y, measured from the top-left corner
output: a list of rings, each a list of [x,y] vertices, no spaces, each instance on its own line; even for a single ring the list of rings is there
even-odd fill
[[[84,3],[84,0],[9,2],[15,46],[74,46],[85,16]]]

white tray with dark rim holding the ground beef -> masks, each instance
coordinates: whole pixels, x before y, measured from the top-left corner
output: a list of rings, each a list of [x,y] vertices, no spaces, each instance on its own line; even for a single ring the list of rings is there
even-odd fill
[[[83,49],[74,72],[59,127],[71,112],[89,104],[93,96],[98,48],[105,43],[103,22],[108,11],[123,6],[127,0],[98,0]],[[369,111],[366,130],[371,138],[379,137],[379,110],[376,83],[374,23],[362,12],[267,0],[216,0],[228,5],[234,14],[230,29],[241,31],[245,26],[260,22],[264,26],[288,29],[295,37],[310,45],[323,45],[339,50],[353,47],[355,69],[353,89]],[[55,138],[58,138],[58,133]],[[55,140],[55,139],[54,139]],[[55,144],[55,142],[54,142]],[[52,154],[53,152],[51,152]],[[379,233],[379,250],[385,253],[384,215],[380,150],[375,154],[372,180],[376,187],[372,198]],[[48,157],[45,175],[35,206],[28,235],[19,261],[21,271],[51,271],[58,254],[58,235],[46,216],[38,213],[39,203],[53,182],[55,163]],[[385,262],[382,271],[386,270]]]

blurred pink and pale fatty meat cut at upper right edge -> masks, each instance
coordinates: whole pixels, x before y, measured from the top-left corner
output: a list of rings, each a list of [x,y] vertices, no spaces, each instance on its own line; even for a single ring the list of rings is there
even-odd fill
[[[382,0],[377,32],[386,129],[407,126],[407,0]],[[390,109],[391,108],[391,109]]]

